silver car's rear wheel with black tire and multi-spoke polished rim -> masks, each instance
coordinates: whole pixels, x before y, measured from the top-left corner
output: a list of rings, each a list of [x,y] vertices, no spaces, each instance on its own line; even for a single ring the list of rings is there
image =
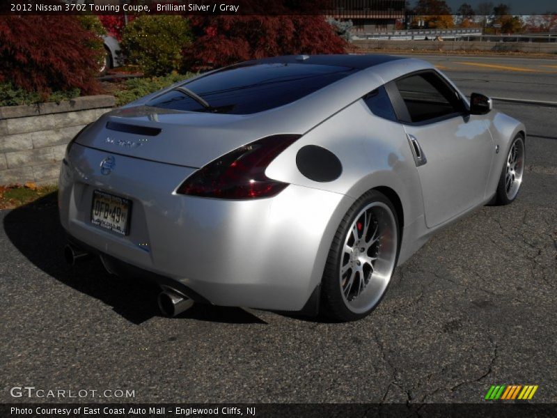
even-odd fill
[[[337,320],[367,316],[379,304],[398,258],[398,219],[389,199],[364,194],[338,227],[322,286],[324,314]]]

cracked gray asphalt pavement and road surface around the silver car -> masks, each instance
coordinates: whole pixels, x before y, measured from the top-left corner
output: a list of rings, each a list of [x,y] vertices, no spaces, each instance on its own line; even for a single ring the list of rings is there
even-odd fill
[[[446,71],[467,93],[557,97],[546,73]],[[208,306],[163,318],[155,287],[65,265],[54,196],[0,211],[0,402],[65,401],[10,396],[27,385],[135,391],[93,399],[112,402],[476,403],[512,384],[557,402],[557,109],[496,107],[528,129],[519,197],[435,235],[354,323]]]

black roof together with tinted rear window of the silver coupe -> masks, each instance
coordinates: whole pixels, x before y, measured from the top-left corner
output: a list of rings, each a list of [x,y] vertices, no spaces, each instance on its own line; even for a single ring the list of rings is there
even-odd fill
[[[399,61],[388,55],[289,55],[245,61],[185,82],[214,113],[256,114],[296,102],[375,65]],[[180,111],[207,111],[181,91],[148,103]],[[205,109],[204,109],[205,107]]]

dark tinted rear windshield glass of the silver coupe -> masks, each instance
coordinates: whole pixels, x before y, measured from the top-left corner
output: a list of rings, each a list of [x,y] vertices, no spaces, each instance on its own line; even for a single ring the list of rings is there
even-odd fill
[[[148,106],[182,111],[253,114],[303,98],[356,72],[356,68],[299,63],[235,65],[182,84],[210,104],[172,90]]]

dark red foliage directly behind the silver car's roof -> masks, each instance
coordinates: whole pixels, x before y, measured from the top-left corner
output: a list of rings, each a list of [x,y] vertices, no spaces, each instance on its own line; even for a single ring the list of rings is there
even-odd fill
[[[185,49],[192,70],[289,54],[343,54],[347,42],[323,16],[194,16],[196,40]]]

